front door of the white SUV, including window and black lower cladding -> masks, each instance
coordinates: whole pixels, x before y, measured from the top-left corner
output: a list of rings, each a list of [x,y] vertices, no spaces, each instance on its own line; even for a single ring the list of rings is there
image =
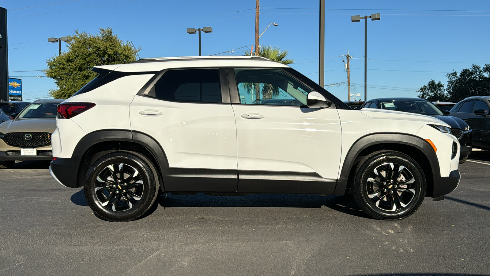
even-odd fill
[[[228,69],[228,77],[238,191],[333,193],[342,141],[335,106],[308,108],[312,89],[279,69]]]

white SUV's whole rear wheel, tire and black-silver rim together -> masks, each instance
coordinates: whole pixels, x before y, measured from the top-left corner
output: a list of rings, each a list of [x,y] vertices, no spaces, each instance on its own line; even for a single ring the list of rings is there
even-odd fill
[[[106,154],[90,166],[85,177],[87,203],[106,221],[136,220],[147,213],[157,197],[155,172],[153,164],[140,154]]]

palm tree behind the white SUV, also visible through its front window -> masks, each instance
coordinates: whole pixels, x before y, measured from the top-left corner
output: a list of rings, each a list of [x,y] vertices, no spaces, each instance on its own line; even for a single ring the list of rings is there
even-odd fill
[[[250,55],[250,51],[245,52],[245,55]],[[255,51],[253,53],[255,55]],[[288,56],[287,50],[282,50],[278,46],[261,46],[259,48],[259,56],[265,57],[275,62],[282,64],[291,64],[294,59],[286,58]],[[245,91],[251,93],[255,90],[255,99],[260,99],[260,83],[242,83]],[[264,83],[262,87],[262,99],[272,99],[272,97],[279,96],[279,88],[269,83]]]

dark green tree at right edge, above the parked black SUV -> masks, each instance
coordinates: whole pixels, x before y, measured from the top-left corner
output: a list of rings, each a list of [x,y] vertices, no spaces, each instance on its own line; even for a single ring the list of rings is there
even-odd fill
[[[452,72],[447,76],[449,100],[459,102],[466,97],[490,94],[490,64],[473,64],[471,68]]]

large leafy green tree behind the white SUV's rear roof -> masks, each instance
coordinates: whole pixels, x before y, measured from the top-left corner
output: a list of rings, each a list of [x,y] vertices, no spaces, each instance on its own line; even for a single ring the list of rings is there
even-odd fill
[[[100,28],[98,34],[75,30],[70,36],[67,51],[48,59],[47,77],[54,80],[57,89],[49,96],[67,99],[97,76],[90,69],[97,65],[122,64],[136,61],[141,48],[134,49],[129,41],[123,42],[111,28]]]

